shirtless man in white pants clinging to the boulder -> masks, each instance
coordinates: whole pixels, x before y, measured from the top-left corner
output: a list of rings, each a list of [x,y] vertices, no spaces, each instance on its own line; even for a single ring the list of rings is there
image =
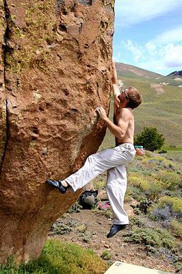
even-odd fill
[[[107,238],[114,236],[129,224],[129,218],[123,208],[125,192],[127,190],[127,172],[125,166],[135,156],[135,147],[133,146],[133,108],[137,108],[142,103],[142,95],[135,88],[127,88],[120,92],[114,63],[112,86],[114,95],[114,123],[109,120],[102,107],[97,108],[96,112],[98,112],[100,118],[105,122],[109,131],[116,137],[116,147],[90,155],[79,171],[62,181],[47,179],[47,184],[54,186],[64,194],[68,187],[76,191],[83,188],[94,177],[107,171],[106,190],[113,210],[113,225],[107,234]]]

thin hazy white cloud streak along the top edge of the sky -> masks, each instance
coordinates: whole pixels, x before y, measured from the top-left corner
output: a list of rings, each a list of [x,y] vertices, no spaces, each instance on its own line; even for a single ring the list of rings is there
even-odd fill
[[[116,0],[115,25],[129,27],[166,14],[174,8],[181,9],[181,0]]]

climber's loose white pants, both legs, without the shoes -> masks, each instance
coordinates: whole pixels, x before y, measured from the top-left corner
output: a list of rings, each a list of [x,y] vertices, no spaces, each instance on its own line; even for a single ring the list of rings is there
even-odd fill
[[[74,191],[82,188],[99,174],[107,171],[107,195],[113,210],[113,223],[128,224],[129,219],[123,208],[125,192],[127,189],[127,171],[125,165],[135,156],[135,148],[130,143],[125,143],[105,149],[90,155],[79,171],[70,175],[65,180]]]

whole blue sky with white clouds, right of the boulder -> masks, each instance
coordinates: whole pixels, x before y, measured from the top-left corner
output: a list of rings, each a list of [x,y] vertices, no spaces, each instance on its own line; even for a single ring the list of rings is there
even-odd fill
[[[168,75],[182,69],[182,1],[116,0],[114,60]]]

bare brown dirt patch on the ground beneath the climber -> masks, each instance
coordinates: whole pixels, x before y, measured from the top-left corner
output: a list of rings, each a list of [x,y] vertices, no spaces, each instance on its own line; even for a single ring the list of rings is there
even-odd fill
[[[62,236],[50,235],[50,238],[60,238],[60,240],[66,242],[74,242],[81,247],[94,250],[98,256],[101,256],[103,251],[108,251],[109,259],[112,262],[118,260],[175,273],[174,265],[164,260],[164,258],[148,255],[142,245],[124,242],[122,234],[125,233],[125,230],[118,232],[113,238],[107,239],[106,235],[112,225],[112,220],[107,219],[106,216],[91,210],[81,210],[81,212],[66,214],[59,221],[66,227],[72,227],[72,230]]]

